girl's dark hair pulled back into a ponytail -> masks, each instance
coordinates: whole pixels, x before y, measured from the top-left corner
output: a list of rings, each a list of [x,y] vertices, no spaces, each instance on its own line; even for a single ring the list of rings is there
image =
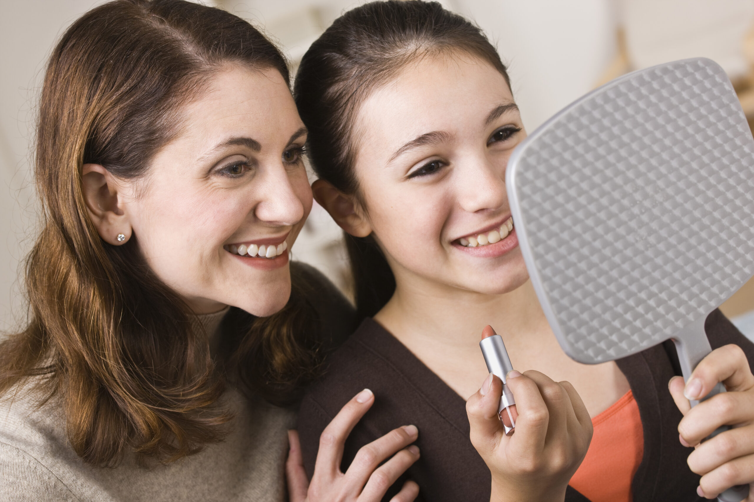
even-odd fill
[[[371,2],[339,17],[305,53],[294,84],[317,175],[358,196],[354,121],[360,105],[408,62],[452,52],[488,62],[510,87],[505,65],[481,29],[437,2]],[[357,315],[374,315],[395,291],[393,272],[372,236],[346,234],[345,241]]]

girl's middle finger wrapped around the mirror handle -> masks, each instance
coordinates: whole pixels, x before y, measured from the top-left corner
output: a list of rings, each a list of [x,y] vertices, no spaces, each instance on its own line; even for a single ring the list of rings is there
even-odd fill
[[[678,424],[678,432],[694,446],[722,425],[746,424],[752,419],[752,392],[722,392],[691,408]]]

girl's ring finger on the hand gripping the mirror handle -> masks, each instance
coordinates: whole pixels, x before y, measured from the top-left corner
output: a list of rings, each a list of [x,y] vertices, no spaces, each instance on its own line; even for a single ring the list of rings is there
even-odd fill
[[[706,440],[688,455],[688,467],[694,473],[706,474],[716,467],[754,453],[754,425],[737,427]]]

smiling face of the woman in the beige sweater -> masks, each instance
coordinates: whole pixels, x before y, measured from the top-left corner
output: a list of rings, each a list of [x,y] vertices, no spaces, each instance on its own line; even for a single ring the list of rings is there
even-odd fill
[[[280,73],[232,66],[186,106],[182,132],[136,181],[124,206],[139,248],[195,312],[271,315],[287,303],[288,250],[312,202],[305,141]],[[242,245],[265,246],[265,257],[241,256]]]

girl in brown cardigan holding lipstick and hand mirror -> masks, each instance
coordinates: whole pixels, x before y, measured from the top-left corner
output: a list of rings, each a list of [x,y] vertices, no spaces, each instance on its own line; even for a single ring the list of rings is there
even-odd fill
[[[526,132],[479,29],[437,3],[363,5],[311,46],[294,94],[320,176],[314,196],[348,233],[366,317],[302,404],[310,469],[326,421],[368,386],[379,402],[343,465],[410,419],[422,457],[408,476],[433,502],[695,500],[754,479],[754,346],[720,312],[706,322],[717,350],[685,389],[669,344],[593,366],[559,348],[504,187]],[[509,375],[520,413],[511,437],[478,345],[486,324],[514,367],[552,378]],[[689,411],[686,398],[719,381],[730,392]],[[688,448],[721,424],[743,427]]]

